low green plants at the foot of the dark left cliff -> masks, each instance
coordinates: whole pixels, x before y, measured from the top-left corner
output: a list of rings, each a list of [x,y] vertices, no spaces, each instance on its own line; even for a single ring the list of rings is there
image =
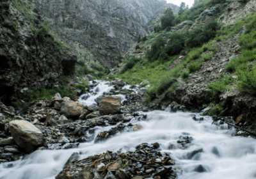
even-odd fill
[[[42,86],[40,89],[29,89],[28,91],[24,91],[21,98],[26,102],[43,100],[44,98],[51,100],[55,93],[60,93],[61,97],[69,97],[74,100],[76,98],[76,91],[68,88],[67,82],[66,79],[61,79],[62,84],[58,88],[45,88],[45,86]]]

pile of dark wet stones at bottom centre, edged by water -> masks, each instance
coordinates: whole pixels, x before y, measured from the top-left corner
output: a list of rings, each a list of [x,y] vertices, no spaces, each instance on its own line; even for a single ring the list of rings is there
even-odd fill
[[[159,143],[142,143],[134,152],[106,153],[79,159],[73,153],[56,179],[98,178],[98,179],[142,179],[176,178],[172,166],[175,164],[168,153],[161,153]]]

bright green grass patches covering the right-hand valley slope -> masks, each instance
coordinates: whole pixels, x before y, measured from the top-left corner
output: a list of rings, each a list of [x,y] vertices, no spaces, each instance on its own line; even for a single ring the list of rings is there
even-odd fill
[[[230,72],[235,72],[238,75],[238,80],[231,80],[229,77],[224,76],[221,77],[220,80],[214,82],[212,85],[208,86],[214,94],[220,94],[226,89],[230,89],[230,85],[233,87],[248,91],[250,93],[255,93],[256,82],[255,82],[255,63],[252,63],[255,58],[255,29],[253,26],[255,23],[256,15],[252,13],[248,17],[238,20],[236,24],[228,27],[221,27],[220,30],[217,31],[217,35],[214,40],[210,40],[208,43],[202,45],[202,47],[197,47],[195,49],[189,49],[189,53],[186,55],[186,58],[183,59],[182,64],[176,65],[172,70],[167,70],[167,67],[172,65],[173,61],[177,59],[178,56],[170,56],[165,61],[154,61],[154,63],[150,63],[145,56],[141,58],[140,62],[136,63],[131,70],[128,70],[124,74],[116,74],[114,77],[118,77],[128,82],[129,84],[139,84],[141,81],[147,79],[150,82],[151,88],[148,89],[145,100],[146,102],[150,102],[154,100],[159,95],[163,95],[163,93],[170,93],[173,91],[177,83],[173,83],[173,78],[177,78],[180,75],[186,78],[188,75],[188,71],[193,72],[200,68],[200,64],[204,60],[211,58],[211,54],[216,52],[216,47],[214,47],[214,43],[220,40],[225,40],[228,36],[237,35],[237,33],[243,30],[243,26],[246,25],[250,31],[246,34],[241,35],[239,38],[239,43],[242,45],[242,55],[241,57],[232,60],[226,67],[226,70],[230,70]],[[151,33],[147,35],[147,40],[145,42],[140,42],[141,49],[140,51],[145,54],[156,38],[156,36],[163,36],[163,38],[168,40],[168,33],[161,31],[160,33]],[[248,42],[248,43],[246,43]],[[205,54],[204,51],[209,50],[212,51],[209,54]],[[248,63],[250,66],[248,66]],[[244,66],[242,66],[244,65]],[[232,67],[233,66],[233,67]],[[236,66],[236,67],[234,67]],[[238,68],[238,66],[240,66]],[[230,69],[231,68],[231,69]],[[248,70],[249,69],[249,70]],[[169,86],[163,85],[166,82],[166,78],[170,79],[167,81]],[[250,84],[251,83],[251,84]],[[164,88],[164,89],[163,89]]]

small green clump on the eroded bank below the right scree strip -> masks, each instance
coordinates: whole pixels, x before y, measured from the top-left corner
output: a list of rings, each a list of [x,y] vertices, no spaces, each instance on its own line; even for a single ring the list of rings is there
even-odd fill
[[[212,82],[212,84],[207,84],[207,88],[211,89],[213,96],[220,95],[226,89],[229,89],[230,84],[234,82],[232,75],[220,75],[220,79]]]

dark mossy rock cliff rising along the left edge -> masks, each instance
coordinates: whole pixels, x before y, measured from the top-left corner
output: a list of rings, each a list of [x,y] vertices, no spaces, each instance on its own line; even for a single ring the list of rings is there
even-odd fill
[[[72,56],[29,1],[0,2],[0,100],[19,97],[28,87],[57,87],[61,76],[74,77]]]

